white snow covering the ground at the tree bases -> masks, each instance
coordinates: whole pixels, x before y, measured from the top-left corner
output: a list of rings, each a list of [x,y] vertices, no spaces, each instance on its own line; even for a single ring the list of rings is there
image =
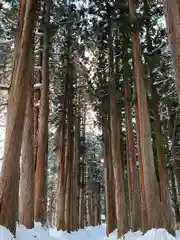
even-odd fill
[[[0,240],[13,240],[12,234],[4,227],[0,226]],[[16,240],[104,240],[105,225],[100,227],[89,227],[74,233],[57,231],[56,229],[45,229],[36,224],[35,228],[27,230],[24,226],[17,227]],[[110,240],[116,239],[116,233],[112,233]],[[125,240],[180,240],[180,231],[176,232],[176,238],[171,236],[165,229],[152,229],[145,235],[141,232],[128,232]]]

